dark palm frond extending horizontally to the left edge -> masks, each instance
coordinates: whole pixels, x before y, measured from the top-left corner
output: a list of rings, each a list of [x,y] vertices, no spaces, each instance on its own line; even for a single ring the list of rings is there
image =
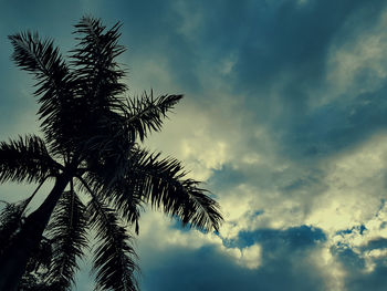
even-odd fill
[[[48,176],[55,176],[60,168],[61,165],[50,156],[43,139],[35,135],[0,143],[0,183],[39,183]]]

